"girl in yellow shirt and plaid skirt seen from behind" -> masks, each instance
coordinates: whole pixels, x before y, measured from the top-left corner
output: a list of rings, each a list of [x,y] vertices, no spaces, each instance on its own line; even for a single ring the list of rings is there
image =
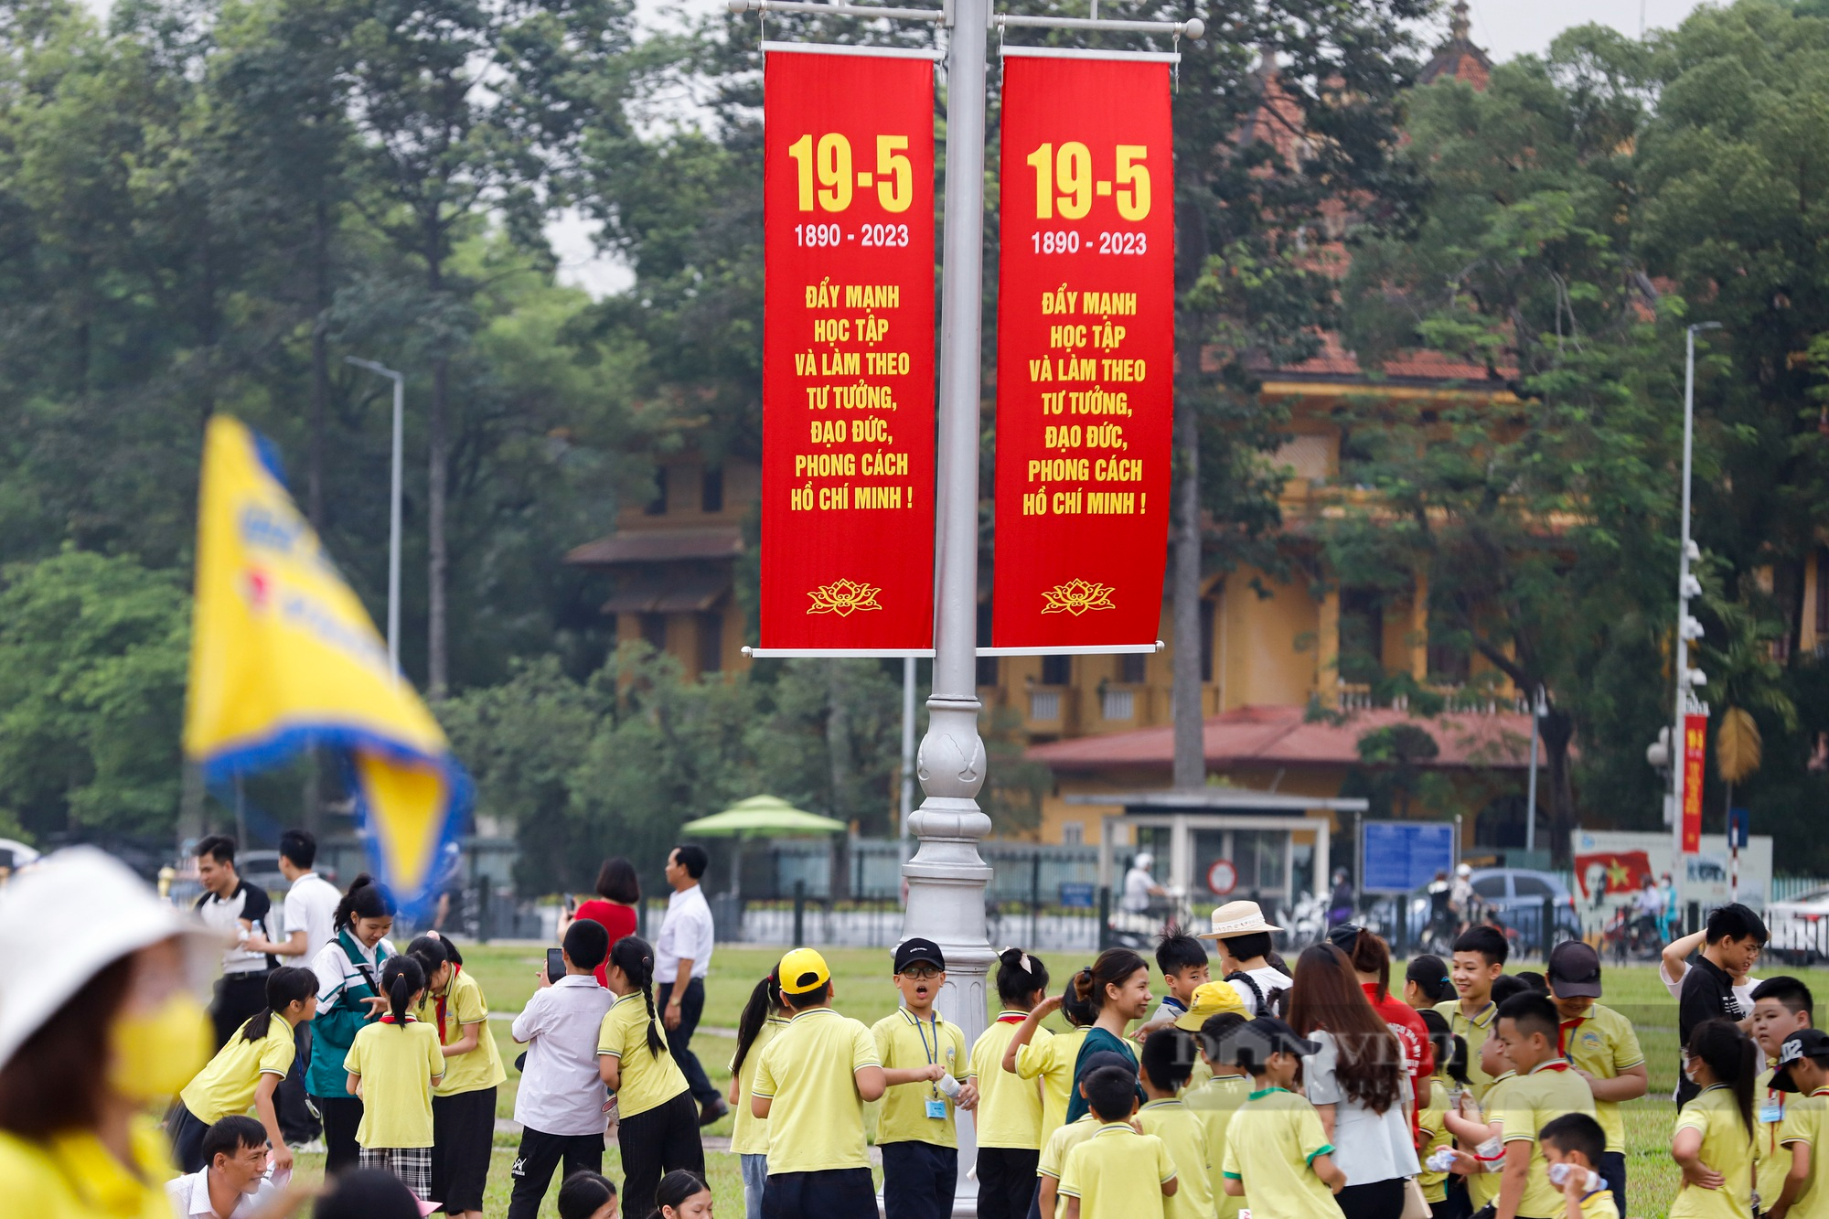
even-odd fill
[[[355,1034],[344,1058],[349,1093],[362,1098],[357,1164],[388,1170],[432,1201],[432,1089],[444,1078],[444,1052],[437,1030],[413,1016],[426,994],[421,957],[388,957],[380,988],[386,1014]]]

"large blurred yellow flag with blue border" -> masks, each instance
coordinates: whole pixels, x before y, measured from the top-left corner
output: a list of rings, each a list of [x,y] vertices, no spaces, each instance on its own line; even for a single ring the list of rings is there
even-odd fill
[[[338,754],[375,869],[412,906],[432,888],[468,782],[274,465],[243,423],[210,419],[185,754],[210,785],[313,745]]]

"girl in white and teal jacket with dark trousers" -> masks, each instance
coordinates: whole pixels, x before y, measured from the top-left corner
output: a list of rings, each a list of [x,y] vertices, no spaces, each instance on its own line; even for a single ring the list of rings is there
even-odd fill
[[[348,1073],[342,1063],[355,1034],[388,1007],[380,994],[380,968],[393,955],[388,943],[393,910],[393,895],[368,873],[358,875],[331,917],[337,933],[311,957],[311,972],[318,976],[318,1018],[311,1023],[305,1093],[324,1117],[326,1175],[357,1162],[355,1131],[362,1124],[362,1102],[344,1091]]]

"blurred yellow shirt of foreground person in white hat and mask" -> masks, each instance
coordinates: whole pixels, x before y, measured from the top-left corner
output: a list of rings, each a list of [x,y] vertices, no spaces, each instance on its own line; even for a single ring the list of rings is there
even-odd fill
[[[132,1149],[134,1168],[128,1168],[90,1131],[66,1131],[42,1142],[0,1131],[0,1182],[7,1214],[31,1219],[172,1219],[165,1182],[177,1170],[157,1122],[134,1118]]]

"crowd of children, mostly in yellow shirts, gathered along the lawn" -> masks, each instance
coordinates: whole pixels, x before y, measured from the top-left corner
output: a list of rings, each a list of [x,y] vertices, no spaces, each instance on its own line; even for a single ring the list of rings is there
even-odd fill
[[[755,983],[730,1060],[748,1219],[865,1219],[878,1204],[887,1219],[951,1215],[960,1111],[975,1118],[968,1168],[984,1219],[1626,1214],[1624,1104],[1650,1073],[1631,1019],[1600,1001],[1593,948],[1564,943],[1542,974],[1505,974],[1503,933],[1474,926],[1449,961],[1410,961],[1399,999],[1386,944],[1363,928],[1335,928],[1291,972],[1251,902],[1222,906],[1213,924],[1161,939],[1160,1003],[1136,952],[1101,952],[1055,988],[1041,959],[1006,948],[999,1010],[969,1045],[940,1010],[936,943],[896,948],[900,1003],[871,1027],[834,1009],[818,950],[788,952]],[[357,886],[318,970],[269,976],[267,1009],[172,1106],[187,1171],[238,1181],[230,1162],[260,1140],[291,1160],[273,1093],[293,1029],[342,1012],[344,1032],[320,1030],[311,1080],[333,1113],[349,1102],[353,1168],[386,1170],[446,1214],[481,1214],[505,1080],[488,1007],[455,944],[422,935],[395,954],[390,930],[384,893]],[[1200,939],[1218,941],[1218,968]],[[563,974],[543,974],[512,1025],[527,1054],[508,1215],[532,1217],[563,1166],[560,1214],[613,1219],[605,1127],[622,1197],[653,1199],[664,1219],[708,1215],[699,1113],[655,1010],[653,948],[635,935],[611,944],[580,919],[560,959]],[[1055,1012],[1064,1030],[1044,1025]],[[1670,1219],[1829,1219],[1814,1173],[1829,1034],[1813,1027],[1809,987],[1769,977],[1732,1016],[1695,1021],[1683,1045],[1690,1098],[1670,1133]],[[258,1122],[236,1117],[251,1106]]]

